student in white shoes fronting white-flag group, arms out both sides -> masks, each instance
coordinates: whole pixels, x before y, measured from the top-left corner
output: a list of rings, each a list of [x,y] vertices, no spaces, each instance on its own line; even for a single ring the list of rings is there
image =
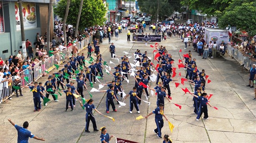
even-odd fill
[[[138,107],[138,99],[141,100],[141,98],[139,98],[137,96],[136,90],[137,90],[137,88],[133,87],[133,90],[131,90],[129,92],[129,94],[125,96],[125,99],[126,99],[130,95],[130,113],[133,113],[133,104],[134,104],[134,107],[136,108],[137,112],[140,113],[140,110]]]

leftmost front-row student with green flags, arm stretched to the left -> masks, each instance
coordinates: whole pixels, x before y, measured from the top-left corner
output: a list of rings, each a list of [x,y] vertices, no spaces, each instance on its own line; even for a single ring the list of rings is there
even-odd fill
[[[44,97],[45,97],[45,95],[40,90],[40,87],[38,87],[38,82],[35,82],[33,86],[21,86],[21,88],[22,87],[30,88],[30,90],[32,90],[33,100],[34,100],[34,105],[35,105],[34,112],[40,111],[40,109],[41,109],[40,94],[43,95]]]

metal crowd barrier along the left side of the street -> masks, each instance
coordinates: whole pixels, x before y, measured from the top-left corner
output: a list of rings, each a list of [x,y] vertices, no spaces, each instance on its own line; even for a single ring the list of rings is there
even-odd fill
[[[77,44],[78,52],[82,51],[83,49],[87,48],[88,43],[92,43],[93,36],[89,38],[85,38],[79,44]],[[47,58],[44,61],[40,61],[39,63],[35,64],[33,68],[28,68],[20,73],[18,73],[21,83],[20,86],[27,86],[33,81],[37,81],[42,75],[44,75],[48,71],[50,72],[55,68],[54,64],[60,65],[65,61],[65,56],[71,57],[71,48],[65,48],[63,51],[56,53],[55,55]],[[65,55],[65,56],[64,56]],[[28,82],[25,80],[25,77],[28,77]],[[10,77],[9,79],[14,80],[14,76]],[[7,99],[14,95],[15,89],[13,88],[13,82],[3,82],[0,83],[0,99],[3,103],[7,103]]]

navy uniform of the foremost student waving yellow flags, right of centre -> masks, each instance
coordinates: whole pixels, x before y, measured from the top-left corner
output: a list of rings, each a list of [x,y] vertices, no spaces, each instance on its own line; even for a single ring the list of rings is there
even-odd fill
[[[160,110],[159,107],[157,107],[153,113],[155,114],[155,121],[156,121],[156,129],[154,130],[156,133],[158,133],[158,136],[161,136],[161,129],[163,128],[163,110]]]

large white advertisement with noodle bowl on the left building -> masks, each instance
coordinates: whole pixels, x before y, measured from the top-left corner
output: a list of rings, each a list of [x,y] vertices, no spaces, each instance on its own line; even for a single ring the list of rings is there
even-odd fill
[[[24,29],[36,28],[35,3],[23,2],[21,9]],[[20,11],[18,2],[15,2],[15,19],[16,29],[20,30]]]

